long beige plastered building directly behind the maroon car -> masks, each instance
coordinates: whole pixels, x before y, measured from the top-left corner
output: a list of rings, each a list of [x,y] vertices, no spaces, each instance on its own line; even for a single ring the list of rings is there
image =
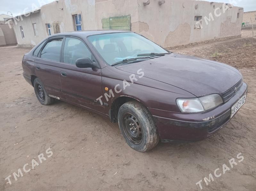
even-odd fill
[[[169,48],[237,37],[243,13],[231,4],[195,0],[58,0],[14,18],[13,27],[19,46],[55,33],[118,29]]]

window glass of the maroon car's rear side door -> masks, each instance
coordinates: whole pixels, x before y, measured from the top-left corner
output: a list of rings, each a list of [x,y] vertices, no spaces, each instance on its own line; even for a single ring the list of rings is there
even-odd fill
[[[53,39],[41,51],[41,58],[60,62],[63,39]]]

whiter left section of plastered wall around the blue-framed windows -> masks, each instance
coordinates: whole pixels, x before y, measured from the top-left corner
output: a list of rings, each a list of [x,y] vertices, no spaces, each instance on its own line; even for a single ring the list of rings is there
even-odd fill
[[[46,24],[50,23],[51,32],[54,34],[53,23],[58,21],[60,32],[74,31],[72,15],[81,13],[84,30],[97,29],[95,21],[94,0],[59,0],[41,7],[39,12],[31,13],[28,17],[22,16],[17,25],[14,24],[14,31],[19,46],[33,47],[48,36]],[[37,25],[38,35],[35,35],[33,23]],[[23,28],[24,37],[21,36],[20,26]]]

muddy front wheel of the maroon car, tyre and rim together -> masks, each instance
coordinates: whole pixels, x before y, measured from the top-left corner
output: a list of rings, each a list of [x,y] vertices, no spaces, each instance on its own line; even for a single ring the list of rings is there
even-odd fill
[[[129,101],[120,107],[118,124],[126,143],[136,151],[149,151],[159,142],[153,116],[139,102]]]

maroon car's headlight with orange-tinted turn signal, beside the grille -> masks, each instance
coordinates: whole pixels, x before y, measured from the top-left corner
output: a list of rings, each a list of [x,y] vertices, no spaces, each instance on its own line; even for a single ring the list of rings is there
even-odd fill
[[[212,109],[223,103],[219,94],[211,94],[200,98],[177,99],[177,105],[181,112],[197,113]]]

